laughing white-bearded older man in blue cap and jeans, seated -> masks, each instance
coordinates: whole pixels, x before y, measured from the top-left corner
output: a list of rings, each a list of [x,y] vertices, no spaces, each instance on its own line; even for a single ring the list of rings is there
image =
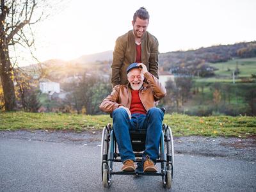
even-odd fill
[[[143,83],[144,78],[147,83]],[[118,84],[113,88],[113,92],[100,104],[100,109],[107,113],[113,112],[114,132],[124,164],[122,171],[135,170],[129,130],[147,129],[143,171],[157,172],[154,164],[159,152],[164,114],[156,108],[156,101],[166,95],[166,90],[143,63],[129,65],[127,79],[128,84]]]

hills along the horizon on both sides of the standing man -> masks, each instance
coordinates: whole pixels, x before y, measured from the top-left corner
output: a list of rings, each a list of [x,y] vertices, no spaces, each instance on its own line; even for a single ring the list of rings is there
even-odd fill
[[[172,51],[159,54],[159,68],[175,74],[188,74],[197,76],[213,76],[215,67],[210,63],[225,62],[233,58],[256,57],[256,41],[241,42],[233,45],[215,45],[202,47],[189,51]],[[52,77],[61,78],[81,74],[84,70],[102,71],[110,74],[113,51],[88,54],[70,61],[47,60],[42,62],[42,67],[51,71]],[[36,70],[38,65],[25,67]],[[25,69],[24,68],[24,69]],[[26,70],[25,69],[25,70]]]

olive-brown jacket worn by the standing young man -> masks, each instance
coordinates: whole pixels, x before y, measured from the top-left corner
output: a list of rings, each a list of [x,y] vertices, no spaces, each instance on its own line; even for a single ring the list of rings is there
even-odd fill
[[[158,41],[155,36],[145,32],[141,39],[141,63],[146,65],[148,72],[158,79]],[[136,44],[132,30],[119,36],[116,40],[112,62],[112,86],[127,84],[126,68],[136,61]]]

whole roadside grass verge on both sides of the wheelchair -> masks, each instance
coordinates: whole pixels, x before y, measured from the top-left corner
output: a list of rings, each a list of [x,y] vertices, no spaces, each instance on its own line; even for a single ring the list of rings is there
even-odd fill
[[[68,130],[102,129],[112,119],[109,115],[74,115],[63,113],[0,113],[0,130]],[[164,123],[172,127],[174,136],[256,135],[256,118],[252,116],[188,116],[166,114]]]

